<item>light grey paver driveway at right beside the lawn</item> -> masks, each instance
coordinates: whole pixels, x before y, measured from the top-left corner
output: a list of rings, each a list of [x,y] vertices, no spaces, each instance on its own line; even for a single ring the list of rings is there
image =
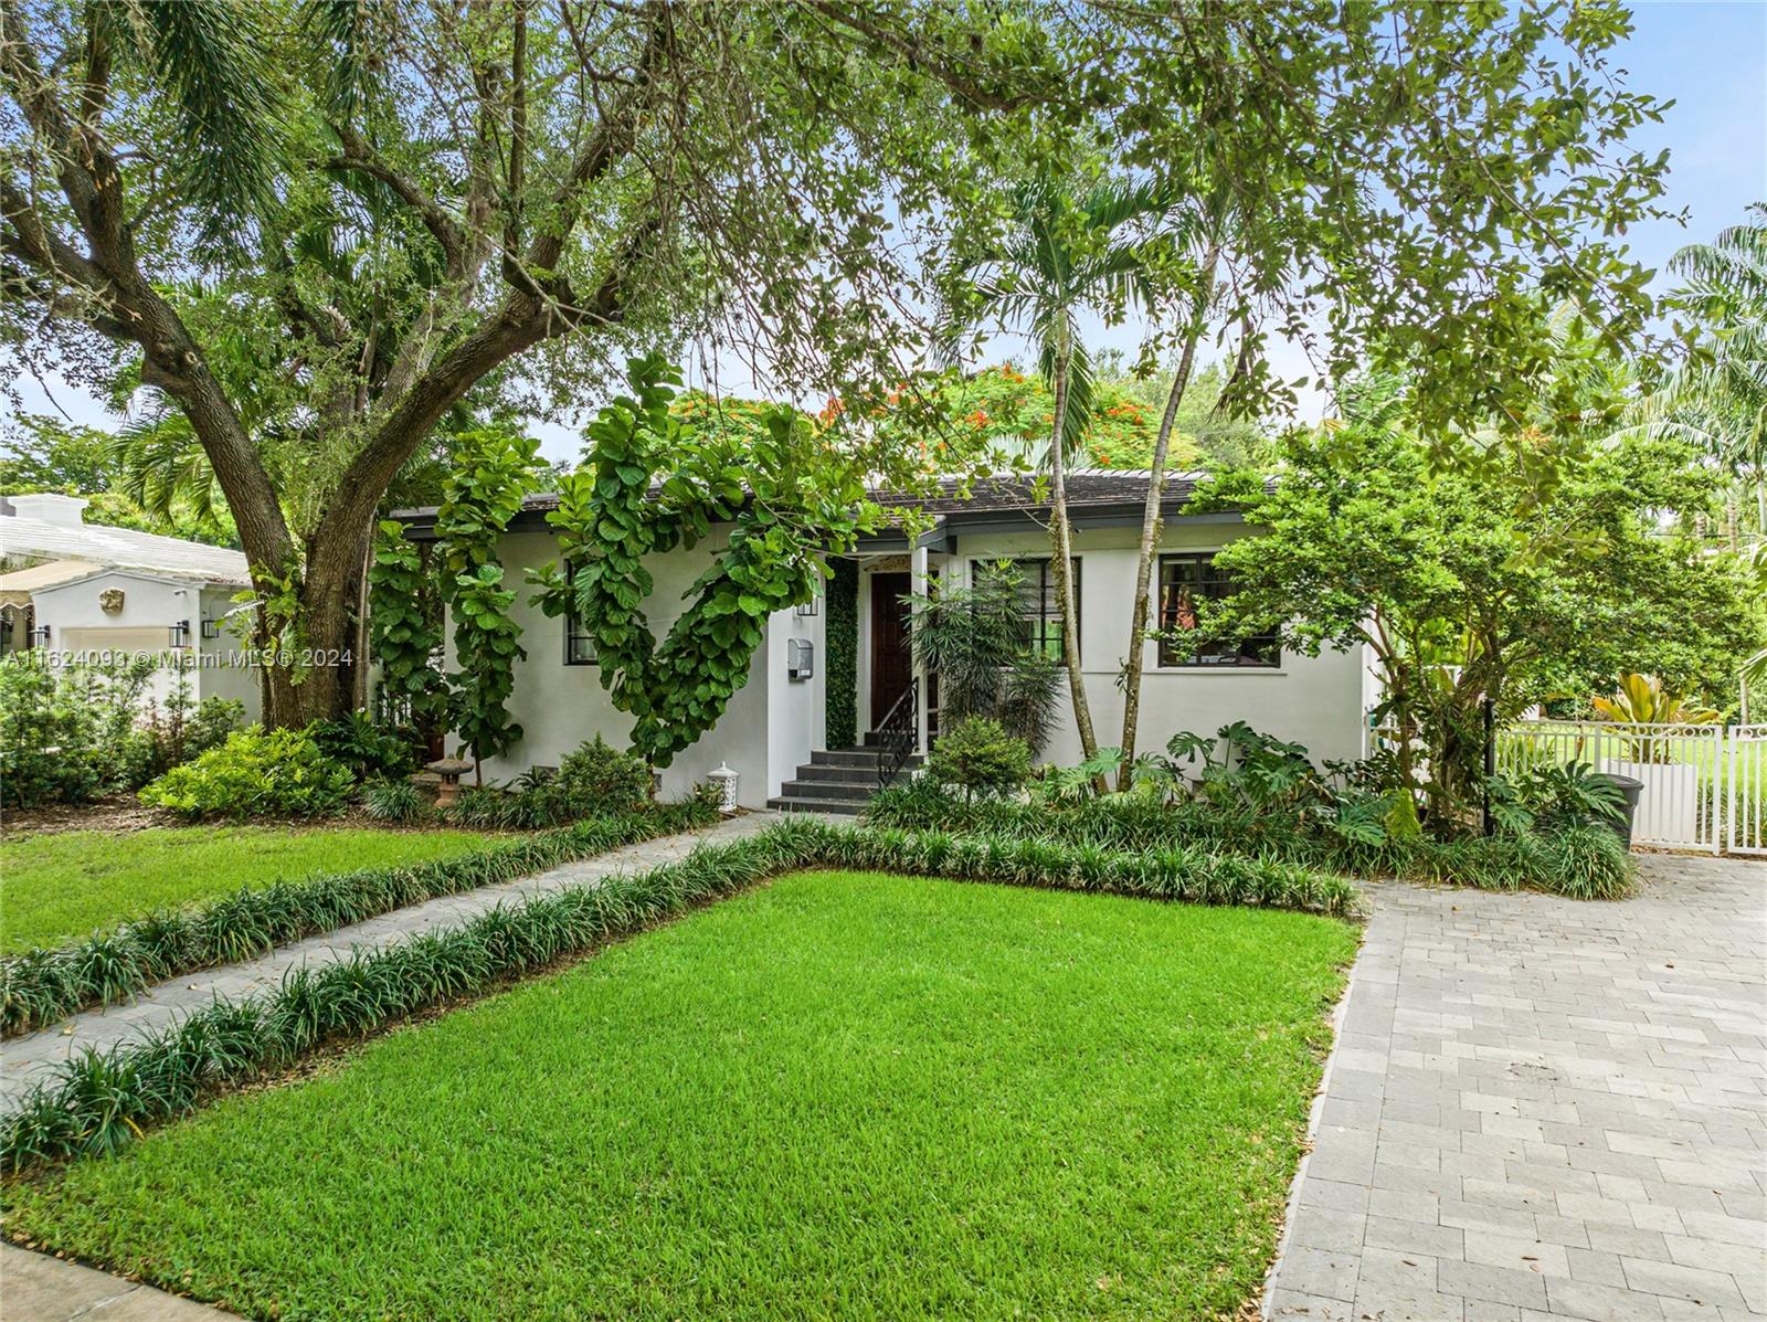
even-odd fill
[[[1378,885],[1265,1315],[1767,1315],[1767,864]]]

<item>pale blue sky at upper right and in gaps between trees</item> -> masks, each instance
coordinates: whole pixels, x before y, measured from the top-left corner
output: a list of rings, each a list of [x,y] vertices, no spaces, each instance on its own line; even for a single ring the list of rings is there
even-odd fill
[[[1634,4],[1634,34],[1613,53],[1627,71],[1627,87],[1675,104],[1663,124],[1633,134],[1645,152],[1670,150],[1666,205],[1686,209],[1687,226],[1659,221],[1627,235],[1638,260],[1659,272],[1686,242],[1710,239],[1742,219],[1751,201],[1767,200],[1767,0],[1642,0]],[[1657,285],[1666,281],[1659,276]],[[1099,346],[1120,346],[1133,355],[1136,327],[1099,329]],[[1021,352],[998,339],[1000,357]],[[1295,348],[1278,348],[1276,369],[1295,378],[1308,373]],[[724,389],[744,392],[733,371],[723,371]],[[49,382],[53,403],[35,382],[23,382],[27,412],[65,412],[76,422],[110,428],[117,419],[99,401]],[[1316,415],[1320,398],[1302,399],[1302,414]],[[550,458],[574,458],[574,426],[537,424]]]

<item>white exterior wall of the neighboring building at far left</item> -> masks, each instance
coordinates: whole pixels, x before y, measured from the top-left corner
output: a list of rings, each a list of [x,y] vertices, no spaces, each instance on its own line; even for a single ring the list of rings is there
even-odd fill
[[[99,594],[108,589],[122,592],[122,610],[115,613],[99,604]],[[49,649],[57,652],[76,645],[94,650],[106,647],[164,650],[171,643],[171,626],[178,620],[189,620],[191,645],[224,657],[228,652],[239,652],[244,645],[228,633],[223,633],[221,638],[203,638],[201,620],[205,615],[219,619],[226,612],[230,597],[231,589],[203,589],[196,581],[111,569],[72,583],[39,589],[32,592],[32,606],[37,626],[49,627]],[[108,640],[106,634],[115,642]],[[194,666],[187,675],[193,700],[235,698],[246,703],[247,723],[258,719],[260,689],[256,675],[249,668],[239,665]],[[147,696],[164,703],[175,686],[175,672],[161,668],[148,682]]]

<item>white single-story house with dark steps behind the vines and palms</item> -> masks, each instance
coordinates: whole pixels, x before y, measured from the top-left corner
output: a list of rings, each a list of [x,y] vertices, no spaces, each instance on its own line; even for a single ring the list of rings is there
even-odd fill
[[[1156,626],[1179,622],[1189,599],[1223,590],[1210,558],[1226,541],[1251,534],[1239,514],[1186,514],[1194,482],[1194,474],[1173,475],[1163,495],[1164,536],[1150,612]],[[1145,472],[1111,470],[1081,470],[1069,481],[1080,657],[1101,744],[1117,742],[1122,728],[1117,677],[1129,634],[1147,484]],[[836,675],[832,682],[853,686],[862,742],[894,710],[898,723],[912,721],[908,728],[924,749],[929,728],[937,728],[937,696],[933,703],[922,698],[929,691],[937,695],[937,684],[915,666],[903,597],[931,573],[968,578],[979,562],[1014,558],[1023,562],[1027,574],[1025,610],[1032,636],[1053,650],[1060,626],[1053,592],[1046,590],[1048,509],[1035,502],[1028,482],[984,481],[970,497],[915,504],[933,516],[929,532],[914,544],[899,532],[864,537],[848,557],[857,569],[855,665],[852,677]],[[523,585],[528,567],[557,558],[557,541],[546,523],[546,511],[555,505],[548,495],[523,504],[500,546],[505,581]],[[398,518],[410,536],[433,536],[435,511],[405,511]],[[675,550],[647,562],[656,578],[647,613],[659,638],[684,608],[682,592],[723,548],[726,534],[728,528],[714,527],[691,551]],[[546,619],[528,604],[530,596],[521,590],[514,606],[528,656],[516,665],[511,709],[525,735],[507,756],[486,764],[486,774],[495,778],[557,765],[597,733],[618,744],[631,730],[631,719],[613,709],[599,684],[587,640],[573,638],[569,620]],[[875,786],[875,755],[862,749],[843,755],[825,746],[829,627],[822,597],[813,606],[772,615],[747,686],[730,700],[717,726],[664,771],[664,794],[684,794],[719,764],[740,774],[739,797],[751,808],[769,801],[836,808]],[[1255,642],[1232,652],[1203,649],[1198,659],[1179,663],[1156,642],[1143,647],[1141,749],[1163,748],[1179,730],[1214,732],[1230,721],[1246,721],[1304,744],[1315,760],[1355,758],[1366,751],[1366,657],[1361,649],[1302,657]],[[1043,758],[1071,765],[1080,760],[1080,741],[1066,691],[1060,710],[1062,725]]]

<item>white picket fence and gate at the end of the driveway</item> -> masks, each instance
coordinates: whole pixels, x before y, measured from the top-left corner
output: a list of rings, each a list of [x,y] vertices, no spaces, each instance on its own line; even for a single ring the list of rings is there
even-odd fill
[[[1643,781],[1633,841],[1767,855],[1767,725],[1520,721],[1497,732],[1497,769],[1583,762]]]

